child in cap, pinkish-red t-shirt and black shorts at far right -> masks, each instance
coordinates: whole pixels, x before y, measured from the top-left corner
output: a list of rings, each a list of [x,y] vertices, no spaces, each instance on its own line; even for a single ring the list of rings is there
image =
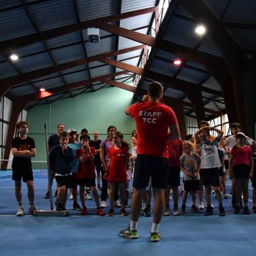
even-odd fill
[[[236,181],[236,207],[234,214],[240,213],[240,199],[243,191],[243,214],[251,214],[248,208],[248,182],[253,178],[253,150],[245,146],[244,133],[236,133],[236,143],[230,152],[230,172],[232,179]]]

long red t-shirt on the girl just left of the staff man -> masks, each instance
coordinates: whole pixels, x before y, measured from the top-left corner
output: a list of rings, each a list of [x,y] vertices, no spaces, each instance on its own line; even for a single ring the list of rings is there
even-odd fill
[[[125,183],[127,181],[126,159],[129,156],[129,148],[124,147],[115,150],[114,146],[108,150],[110,158],[108,166],[108,181],[111,183]]]

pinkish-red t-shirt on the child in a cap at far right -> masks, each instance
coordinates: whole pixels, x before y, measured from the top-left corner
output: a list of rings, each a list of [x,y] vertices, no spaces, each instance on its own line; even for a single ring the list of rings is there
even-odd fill
[[[253,156],[253,150],[249,146],[245,146],[240,148],[238,146],[234,146],[230,151],[234,158],[234,165],[238,164],[250,164],[251,156]]]

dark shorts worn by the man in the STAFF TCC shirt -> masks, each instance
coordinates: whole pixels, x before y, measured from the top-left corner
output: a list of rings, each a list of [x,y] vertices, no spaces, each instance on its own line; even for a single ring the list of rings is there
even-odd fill
[[[152,177],[152,187],[165,189],[168,185],[168,158],[159,156],[137,155],[133,175],[133,187],[144,189],[148,187]]]

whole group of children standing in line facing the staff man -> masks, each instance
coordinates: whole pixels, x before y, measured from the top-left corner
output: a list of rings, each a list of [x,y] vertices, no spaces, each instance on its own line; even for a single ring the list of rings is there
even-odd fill
[[[61,124],[62,125],[62,124]],[[205,216],[213,214],[211,203],[212,187],[219,203],[220,216],[226,212],[222,203],[222,197],[226,197],[225,167],[230,171],[232,178],[232,205],[234,214],[241,211],[241,195],[243,194],[243,214],[251,214],[248,207],[249,179],[253,182],[253,212],[256,213],[256,173],[253,161],[256,159],[255,141],[249,139],[241,132],[241,125],[230,125],[232,135],[225,140],[223,132],[209,127],[207,122],[200,125],[199,130],[187,137],[186,141],[177,139],[168,141],[169,152],[169,177],[168,187],[165,190],[164,215],[170,215],[169,193],[172,189],[174,199],[174,215],[179,215],[178,199],[180,185],[180,171],[183,171],[183,203],[181,211],[186,211],[186,202],[189,193],[192,195],[193,212],[203,209],[202,188],[205,186],[205,201],[207,203]],[[32,175],[31,158],[36,154],[34,139],[27,136],[28,123],[20,121],[17,124],[19,136],[13,138],[11,150],[13,153],[13,180],[15,181],[15,196],[18,201],[17,216],[24,215],[22,204],[21,179],[27,183],[29,210],[36,210],[34,205],[34,184]],[[215,138],[210,131],[216,131]],[[67,201],[67,189],[72,189],[73,209],[80,210],[82,215],[87,214],[85,187],[90,187],[96,203],[96,213],[104,216],[102,209],[106,207],[106,199],[109,189],[110,210],[108,216],[114,216],[114,204],[121,197],[121,215],[127,216],[125,206],[129,197],[129,144],[124,141],[123,134],[117,131],[115,126],[107,129],[108,136],[105,140],[98,140],[98,132],[94,132],[94,139],[90,139],[88,133],[82,133],[78,138],[75,129],[67,132],[61,131],[58,135],[57,145],[49,152],[49,162],[57,181],[56,210],[65,210]],[[194,142],[195,139],[195,142]],[[92,146],[93,145],[93,146]],[[96,146],[97,145],[97,146]],[[220,146],[219,146],[220,145]],[[249,145],[249,146],[248,146]],[[94,148],[95,146],[95,148]],[[251,147],[250,147],[251,146]],[[137,133],[131,135],[131,158],[133,164],[136,161]],[[197,148],[198,147],[198,148]],[[219,147],[219,149],[218,149]],[[224,156],[224,153],[226,156]],[[98,160],[96,161],[96,158]],[[227,164],[227,161],[229,162]],[[99,162],[100,161],[100,162]],[[95,164],[94,164],[95,163]],[[100,167],[99,167],[100,165]],[[102,174],[102,204],[96,188],[95,167]],[[77,203],[77,185],[82,207]],[[99,181],[98,181],[99,186]],[[119,195],[117,192],[119,189]],[[145,198],[143,198],[144,215],[150,216],[151,186],[149,184]],[[196,206],[196,195],[199,193],[199,208]]]

